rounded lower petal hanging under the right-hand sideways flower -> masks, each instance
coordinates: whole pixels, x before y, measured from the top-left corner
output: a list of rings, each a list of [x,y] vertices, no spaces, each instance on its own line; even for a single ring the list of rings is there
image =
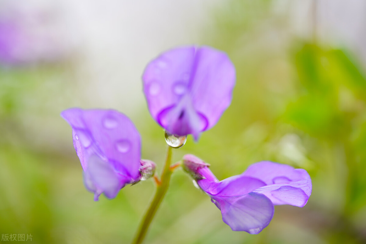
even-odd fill
[[[223,221],[234,231],[258,234],[272,220],[275,211],[265,195],[249,193],[240,197],[214,196],[212,201],[221,210]]]

